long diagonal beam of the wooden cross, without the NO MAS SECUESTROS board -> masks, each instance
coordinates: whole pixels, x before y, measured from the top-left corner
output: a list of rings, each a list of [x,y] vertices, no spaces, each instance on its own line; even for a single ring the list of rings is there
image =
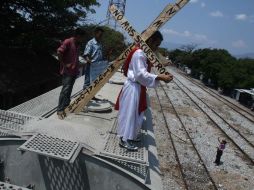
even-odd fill
[[[141,35],[143,41],[147,40],[156,30],[161,28],[169,19],[171,19],[182,7],[184,7],[190,0],[177,0],[174,5],[168,4],[160,15],[151,23],[149,28]],[[115,61],[108,66],[108,68],[100,74],[97,79],[81,94],[75,98],[69,106],[67,106],[62,114],[66,117],[68,114],[80,112],[84,106],[95,96],[95,94],[108,82],[108,80],[115,74],[127,58],[129,52],[134,48],[135,43],[128,47]],[[158,65],[160,67],[160,65]],[[161,72],[163,69],[161,70]]]

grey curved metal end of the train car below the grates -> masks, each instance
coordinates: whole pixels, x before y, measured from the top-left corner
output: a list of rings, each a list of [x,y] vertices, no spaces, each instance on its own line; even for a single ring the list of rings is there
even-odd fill
[[[91,156],[79,155],[73,164],[17,151],[23,141],[0,141],[0,181],[9,177],[19,186],[36,190],[142,190],[148,189],[126,173]]]

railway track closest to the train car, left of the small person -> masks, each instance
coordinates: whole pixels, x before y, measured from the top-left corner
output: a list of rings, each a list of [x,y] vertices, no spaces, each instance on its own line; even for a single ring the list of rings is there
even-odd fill
[[[218,189],[164,87],[161,86],[156,89],[155,94],[165,123],[164,126],[169,134],[175,157],[181,170],[185,188]],[[172,111],[176,116],[178,128],[181,128],[181,134],[175,135],[177,133],[174,131],[176,126],[172,127],[173,124],[169,123],[170,121],[167,119],[167,114],[169,112],[172,113]],[[187,140],[184,142],[183,139]]]

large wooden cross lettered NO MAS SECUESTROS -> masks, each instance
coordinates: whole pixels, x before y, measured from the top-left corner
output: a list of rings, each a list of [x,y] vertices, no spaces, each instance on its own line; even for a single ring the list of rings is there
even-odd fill
[[[128,30],[129,35],[133,33],[132,37],[134,41],[141,44],[141,48],[146,53],[148,59],[155,65],[159,73],[167,74],[166,69],[160,63],[159,59],[153,54],[149,46],[146,45],[145,41],[159,28],[161,28],[169,19],[171,19],[182,7],[184,7],[190,0],[177,0],[177,2],[172,5],[168,4],[160,15],[151,23],[151,25],[145,30],[144,33],[140,36],[129,24],[129,22],[123,17],[123,14],[116,9],[116,7],[111,6],[110,11],[116,17],[118,21],[123,21],[122,23],[124,28]],[[95,96],[95,94],[108,82],[108,80],[115,74],[115,72],[120,68],[124,63],[130,51],[134,48],[135,43],[128,47],[115,61],[113,61],[109,67],[100,74],[93,83],[83,90],[81,94],[75,98],[69,106],[64,110],[63,117],[66,117],[68,114],[75,112],[79,113],[82,111],[84,106]]]

